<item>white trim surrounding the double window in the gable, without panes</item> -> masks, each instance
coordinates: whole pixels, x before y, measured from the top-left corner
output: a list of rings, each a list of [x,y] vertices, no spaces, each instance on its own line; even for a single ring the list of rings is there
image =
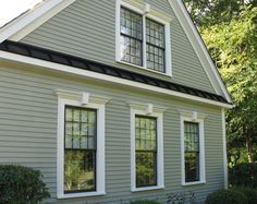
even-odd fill
[[[164,41],[166,41],[166,72],[161,73],[162,75],[166,76],[172,76],[172,62],[171,62],[171,40],[170,40],[170,22],[172,21],[171,17],[168,17],[163,15],[161,12],[156,11],[150,8],[148,3],[140,3],[138,1],[130,1],[130,3],[124,2],[122,0],[117,0],[115,4],[115,61],[120,63],[124,63],[127,65],[136,67],[143,70],[148,70],[152,71],[150,69],[147,69],[147,60],[146,60],[146,40],[145,37],[143,37],[143,65],[135,65],[128,62],[123,62],[121,60],[121,35],[120,35],[120,24],[121,24],[121,19],[120,19],[120,12],[121,12],[121,7],[124,7],[126,9],[130,9],[131,11],[134,11],[143,16],[143,36],[146,36],[146,17],[151,19],[156,22],[159,22],[163,24],[164,26]],[[154,71],[157,73],[158,71]]]

